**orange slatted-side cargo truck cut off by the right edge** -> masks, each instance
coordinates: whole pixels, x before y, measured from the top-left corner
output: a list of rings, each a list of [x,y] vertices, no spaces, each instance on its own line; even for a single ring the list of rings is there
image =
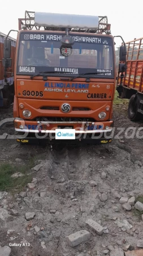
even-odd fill
[[[125,48],[127,57],[119,63],[116,89],[120,98],[129,99],[129,119],[141,121],[143,119],[143,38],[135,38],[125,43]]]

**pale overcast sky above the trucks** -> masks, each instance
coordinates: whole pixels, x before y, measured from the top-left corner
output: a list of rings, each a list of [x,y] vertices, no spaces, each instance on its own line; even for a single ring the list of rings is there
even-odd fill
[[[83,14],[107,16],[111,24],[111,34],[121,35],[125,42],[143,37],[142,0],[7,0],[1,5],[0,31],[8,34],[18,30],[18,18],[24,18],[25,10],[47,13]],[[10,36],[16,38],[16,32]],[[115,38],[116,47],[122,43]]]

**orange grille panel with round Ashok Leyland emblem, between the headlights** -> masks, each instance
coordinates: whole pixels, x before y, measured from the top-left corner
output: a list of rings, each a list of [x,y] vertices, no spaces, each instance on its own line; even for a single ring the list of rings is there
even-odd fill
[[[64,104],[66,101],[48,101],[47,100],[36,100],[36,99],[23,99],[19,98],[18,103],[24,105],[24,109],[29,109],[32,113],[30,118],[27,119],[34,119],[36,117],[63,117],[63,113],[60,110],[61,105]],[[98,114],[99,112],[106,111],[106,108],[109,107],[111,109],[111,101],[97,101],[97,102],[90,102],[90,101],[69,101],[68,104],[71,105],[71,112],[64,113],[64,117],[75,117],[75,118],[94,118],[96,121],[101,121],[99,119]],[[41,109],[42,106],[54,106],[58,107],[58,110],[47,110]],[[89,108],[90,110],[72,110],[73,108]],[[19,117],[24,118],[23,110],[19,109]],[[105,121],[109,119],[110,112],[106,113]]]

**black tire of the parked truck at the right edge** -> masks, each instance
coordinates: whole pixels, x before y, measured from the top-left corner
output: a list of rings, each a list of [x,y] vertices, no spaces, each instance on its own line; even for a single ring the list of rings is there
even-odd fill
[[[133,94],[128,105],[128,117],[131,121],[141,121],[143,119],[142,114],[137,111],[139,104],[140,97]]]

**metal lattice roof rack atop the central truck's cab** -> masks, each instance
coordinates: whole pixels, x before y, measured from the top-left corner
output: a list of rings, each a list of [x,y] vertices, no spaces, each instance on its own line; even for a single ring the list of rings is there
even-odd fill
[[[72,32],[89,32],[96,34],[111,34],[110,24],[108,23],[107,16],[98,16],[99,23],[98,28],[94,29],[82,29],[82,28],[70,28]],[[35,25],[35,12],[25,11],[25,18],[19,19],[19,30],[51,30],[51,31],[66,31],[65,27],[52,27],[52,26],[37,26]]]

